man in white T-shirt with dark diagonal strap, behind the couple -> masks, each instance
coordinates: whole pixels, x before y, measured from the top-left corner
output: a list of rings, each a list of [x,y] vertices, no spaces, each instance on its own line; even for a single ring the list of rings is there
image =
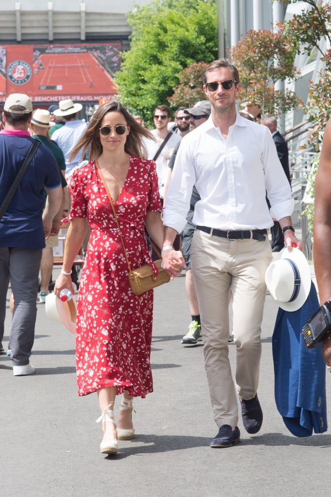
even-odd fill
[[[181,137],[176,133],[168,131],[167,124],[171,121],[170,109],[167,105],[158,105],[154,111],[155,128],[151,130],[154,140],[144,140],[144,145],[147,151],[147,159],[153,159],[157,165],[157,173],[159,177],[159,191],[161,199],[164,197],[165,184],[168,176],[168,161],[171,153]],[[165,142],[166,140],[166,142]],[[163,146],[165,142],[165,145]],[[162,150],[159,153],[160,147]]]

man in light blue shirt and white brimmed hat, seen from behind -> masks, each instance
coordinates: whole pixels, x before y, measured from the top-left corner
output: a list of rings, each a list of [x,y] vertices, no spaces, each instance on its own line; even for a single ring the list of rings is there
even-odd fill
[[[71,174],[76,166],[80,164],[83,158],[78,154],[73,162],[70,162],[70,154],[86,129],[86,123],[77,118],[78,112],[83,108],[81,103],[74,103],[71,98],[60,100],[59,109],[53,111],[57,117],[62,117],[66,124],[54,131],[52,140],[54,140],[62,150],[66,160],[66,179],[70,179]]]

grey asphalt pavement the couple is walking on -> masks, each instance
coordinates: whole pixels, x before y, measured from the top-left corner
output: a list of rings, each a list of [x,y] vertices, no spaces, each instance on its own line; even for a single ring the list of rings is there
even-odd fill
[[[240,419],[240,443],[231,448],[209,447],[218,429],[204,372],[203,345],[180,343],[190,322],[182,275],[155,290],[154,393],[135,400],[136,436],[120,441],[116,456],[99,451],[102,433],[95,423],[96,394],[77,396],[75,336],[48,320],[43,304],[37,306],[31,356],[36,374],[13,377],[10,359],[0,356],[2,496],[329,496],[330,430],[297,438],[276,409],[271,336],[277,306],[270,295],[266,295],[262,324],[261,430],[249,435]],[[9,330],[8,308],[4,347]],[[233,371],[235,348],[229,345]],[[328,370],[326,374],[331,399],[331,374]]]

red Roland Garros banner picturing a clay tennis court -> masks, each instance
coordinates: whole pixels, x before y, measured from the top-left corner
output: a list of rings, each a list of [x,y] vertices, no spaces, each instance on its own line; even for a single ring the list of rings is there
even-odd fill
[[[117,93],[121,43],[0,45],[0,102],[26,93],[32,102],[99,102]]]

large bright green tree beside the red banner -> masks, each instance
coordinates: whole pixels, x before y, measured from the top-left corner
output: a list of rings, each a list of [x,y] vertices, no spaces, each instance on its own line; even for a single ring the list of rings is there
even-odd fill
[[[217,4],[157,0],[135,6],[128,21],[131,46],[115,75],[118,97],[149,124],[155,106],[168,103],[184,68],[217,57]]]

